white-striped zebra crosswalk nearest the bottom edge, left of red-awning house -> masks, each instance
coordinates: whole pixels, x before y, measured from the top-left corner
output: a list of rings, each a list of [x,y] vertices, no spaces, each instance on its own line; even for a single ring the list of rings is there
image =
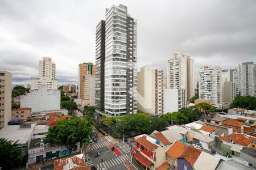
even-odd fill
[[[122,164],[122,163],[125,163],[125,162],[128,162],[128,161],[129,161],[129,156],[128,155],[122,155],[122,156],[119,156],[119,157],[114,158],[114,159],[106,160],[103,163],[98,163],[97,168],[98,169],[100,169],[100,168],[109,169],[109,168],[115,167],[116,165],[119,165],[119,164]]]

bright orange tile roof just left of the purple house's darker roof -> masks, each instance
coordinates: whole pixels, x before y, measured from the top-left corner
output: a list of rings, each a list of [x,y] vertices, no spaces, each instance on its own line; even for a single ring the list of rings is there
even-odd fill
[[[166,153],[174,158],[178,158],[187,146],[188,145],[185,145],[185,143],[175,141],[174,143],[172,143],[171,147],[168,148]]]

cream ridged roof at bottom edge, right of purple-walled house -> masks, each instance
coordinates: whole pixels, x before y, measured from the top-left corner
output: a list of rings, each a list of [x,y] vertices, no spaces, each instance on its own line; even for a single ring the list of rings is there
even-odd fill
[[[197,158],[193,168],[196,170],[216,169],[221,163],[220,160],[220,158],[214,157],[203,151]]]

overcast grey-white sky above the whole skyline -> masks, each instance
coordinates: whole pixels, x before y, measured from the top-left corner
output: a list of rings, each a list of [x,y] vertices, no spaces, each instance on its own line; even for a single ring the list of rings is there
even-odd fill
[[[203,65],[256,61],[256,1],[0,0],[0,70],[14,83],[38,76],[52,57],[59,84],[78,82],[78,65],[95,63],[95,32],[105,8],[122,3],[138,19],[138,61],[166,71],[174,52]]]

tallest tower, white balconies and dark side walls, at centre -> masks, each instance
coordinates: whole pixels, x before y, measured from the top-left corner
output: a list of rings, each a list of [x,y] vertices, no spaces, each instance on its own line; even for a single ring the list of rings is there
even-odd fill
[[[103,27],[101,22],[96,29],[100,31]],[[103,36],[104,31],[100,32],[96,32],[96,36]],[[103,48],[102,39],[97,41],[96,37],[96,47],[97,43],[101,43]],[[101,57],[104,59],[103,55]],[[98,70],[101,70],[99,64],[102,65],[102,62],[98,60]],[[113,5],[106,9],[104,67],[105,112],[112,116],[137,113],[137,20],[127,13],[126,6]],[[99,80],[98,76],[96,84],[100,84]]]

